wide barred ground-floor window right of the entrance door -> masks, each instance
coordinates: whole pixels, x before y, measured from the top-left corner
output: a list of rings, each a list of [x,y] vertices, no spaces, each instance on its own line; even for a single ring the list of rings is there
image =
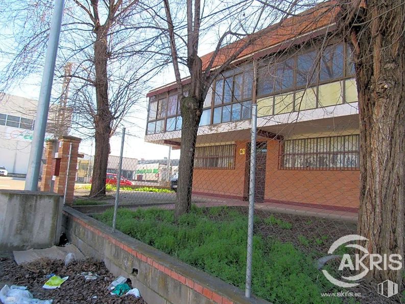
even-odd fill
[[[358,170],[359,135],[291,139],[279,158],[285,170]]]

